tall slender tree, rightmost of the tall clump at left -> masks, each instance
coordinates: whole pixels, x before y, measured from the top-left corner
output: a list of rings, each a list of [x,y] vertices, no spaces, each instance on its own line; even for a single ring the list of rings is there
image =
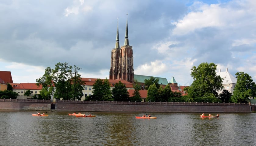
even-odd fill
[[[83,90],[85,82],[82,81],[81,75],[79,74],[79,66],[74,65],[73,67],[73,75],[71,77],[71,99],[72,100],[81,100],[81,97],[83,96]]]

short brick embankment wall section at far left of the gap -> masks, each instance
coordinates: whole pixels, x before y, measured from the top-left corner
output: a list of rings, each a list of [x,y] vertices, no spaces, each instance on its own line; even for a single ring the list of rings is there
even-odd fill
[[[9,110],[51,110],[51,103],[0,102],[0,109]]]

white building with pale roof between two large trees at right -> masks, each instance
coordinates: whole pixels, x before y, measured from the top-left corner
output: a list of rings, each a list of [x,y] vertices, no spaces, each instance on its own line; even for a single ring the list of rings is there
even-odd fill
[[[217,75],[220,75],[221,78],[223,78],[223,82],[222,82],[222,85],[224,86],[223,89],[228,90],[233,95],[233,90],[237,81],[236,78],[229,73],[228,68],[226,68],[226,71],[222,71],[222,72],[219,69],[219,72],[217,72]],[[222,93],[222,90],[219,91],[218,93],[219,94]]]

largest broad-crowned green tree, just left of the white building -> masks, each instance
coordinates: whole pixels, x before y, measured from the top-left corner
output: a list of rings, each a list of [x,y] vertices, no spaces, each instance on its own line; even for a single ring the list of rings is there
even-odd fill
[[[191,69],[194,81],[188,88],[189,98],[204,97],[213,93],[218,97],[218,90],[222,89],[222,78],[216,73],[217,65],[214,63],[201,63]]]

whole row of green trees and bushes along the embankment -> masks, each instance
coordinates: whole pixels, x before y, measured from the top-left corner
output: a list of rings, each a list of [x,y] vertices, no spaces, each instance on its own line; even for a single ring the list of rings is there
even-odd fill
[[[57,63],[55,68],[47,67],[44,75],[36,79],[36,85],[42,86],[38,99],[63,99],[63,100],[81,100],[85,82],[82,81],[79,73],[79,66],[71,66],[68,63]],[[159,85],[159,79],[150,77],[144,80],[145,89],[148,90],[146,102],[232,102],[248,103],[249,98],[256,95],[256,85],[250,75],[244,72],[237,72],[237,82],[233,90],[233,95],[223,88],[221,78],[216,73],[217,65],[214,63],[201,63],[191,69],[193,83],[184,89],[187,95],[182,96],[180,92],[172,92],[170,85],[164,88]],[[54,88],[55,86],[55,88]],[[84,100],[92,101],[137,101],[141,102],[140,90],[141,84],[137,81],[133,84],[133,95],[130,96],[126,85],[122,82],[115,84],[111,90],[108,79],[97,79],[93,84],[92,95]],[[15,98],[18,94],[12,92],[11,85],[8,85],[7,91],[1,91],[0,97]],[[222,93],[218,94],[218,91]],[[25,94],[29,94],[27,91]]]

